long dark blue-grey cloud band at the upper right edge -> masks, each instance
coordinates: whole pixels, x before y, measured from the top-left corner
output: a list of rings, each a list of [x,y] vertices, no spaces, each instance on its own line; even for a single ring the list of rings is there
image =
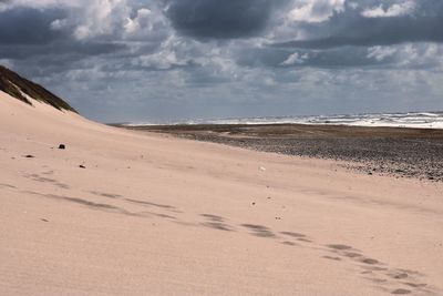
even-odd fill
[[[346,45],[373,47],[403,42],[443,42],[443,1],[421,0],[414,13],[364,17],[361,9],[348,8],[322,23],[300,23],[310,38],[278,42],[274,47],[328,49]]]

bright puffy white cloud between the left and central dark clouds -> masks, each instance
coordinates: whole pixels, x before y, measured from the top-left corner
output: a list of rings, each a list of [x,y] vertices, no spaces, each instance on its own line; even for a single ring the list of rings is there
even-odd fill
[[[150,40],[150,34],[158,41],[171,30],[158,2],[150,7],[134,8],[131,0],[19,0],[10,4],[44,9],[48,7],[65,8],[68,16],[51,23],[52,30],[64,30],[80,40],[91,40],[113,35],[121,39]],[[1,8],[1,7],[0,7]],[[161,38],[162,41],[164,38]]]

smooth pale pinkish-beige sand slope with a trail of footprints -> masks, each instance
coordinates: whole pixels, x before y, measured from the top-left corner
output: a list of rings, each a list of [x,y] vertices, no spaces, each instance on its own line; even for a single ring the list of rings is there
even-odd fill
[[[2,295],[443,294],[440,183],[33,103],[0,94]]]

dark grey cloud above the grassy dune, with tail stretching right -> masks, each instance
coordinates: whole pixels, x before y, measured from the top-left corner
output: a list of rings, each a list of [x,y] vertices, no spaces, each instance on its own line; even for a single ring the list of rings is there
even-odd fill
[[[75,61],[127,49],[127,44],[112,40],[80,42],[73,38],[72,32],[51,28],[54,21],[63,20],[69,13],[62,7],[11,7],[1,11],[0,59],[17,63],[19,60],[27,60],[30,67],[62,72],[69,70]]]

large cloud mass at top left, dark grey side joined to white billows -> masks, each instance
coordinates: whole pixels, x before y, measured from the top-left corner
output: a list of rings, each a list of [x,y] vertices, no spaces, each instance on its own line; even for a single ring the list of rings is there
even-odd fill
[[[3,3],[6,9],[0,11],[2,59],[40,57],[45,62],[59,63],[60,60],[122,54],[122,51],[128,57],[152,52],[169,33],[161,11],[154,13],[147,7],[130,4],[126,0]]]

